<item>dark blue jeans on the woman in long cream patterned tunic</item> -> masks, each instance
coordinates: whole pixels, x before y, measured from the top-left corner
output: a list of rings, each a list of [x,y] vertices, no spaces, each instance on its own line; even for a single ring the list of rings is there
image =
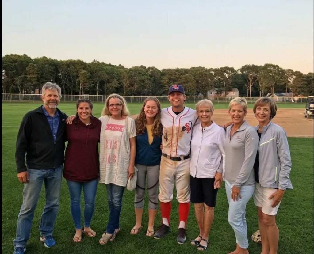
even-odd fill
[[[124,192],[123,186],[113,183],[106,184],[108,205],[109,205],[109,221],[107,224],[107,233],[113,234],[115,229],[119,229],[119,219],[122,207],[122,196]]]

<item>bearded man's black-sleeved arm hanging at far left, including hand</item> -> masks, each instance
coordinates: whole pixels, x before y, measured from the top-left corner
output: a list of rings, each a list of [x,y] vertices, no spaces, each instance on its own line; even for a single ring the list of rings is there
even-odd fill
[[[21,183],[28,183],[29,176],[25,166],[25,153],[27,151],[28,139],[31,135],[32,120],[30,113],[22,119],[19,132],[16,139],[15,162],[17,168],[17,177]]]

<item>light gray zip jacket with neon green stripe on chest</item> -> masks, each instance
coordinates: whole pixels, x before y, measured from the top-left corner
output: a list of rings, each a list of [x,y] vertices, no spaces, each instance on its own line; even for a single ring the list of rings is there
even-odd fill
[[[259,126],[254,127],[258,130]],[[286,132],[272,121],[263,127],[258,145],[259,183],[267,188],[292,189],[291,157]]]

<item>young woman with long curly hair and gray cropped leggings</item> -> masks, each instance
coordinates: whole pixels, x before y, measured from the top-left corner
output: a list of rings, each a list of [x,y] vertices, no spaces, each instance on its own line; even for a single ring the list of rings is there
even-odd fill
[[[158,183],[162,142],[162,125],[160,122],[160,102],[155,97],[148,97],[141,108],[136,125],[136,157],[135,165],[138,168],[135,189],[135,216],[136,224],[131,230],[132,235],[137,235],[142,227],[142,214],[144,194],[147,177],[148,192],[148,228],[146,236],[154,235],[154,220],[158,207]]]

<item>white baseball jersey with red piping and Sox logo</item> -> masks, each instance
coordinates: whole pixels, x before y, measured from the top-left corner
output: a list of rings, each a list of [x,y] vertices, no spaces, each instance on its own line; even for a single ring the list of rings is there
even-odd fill
[[[192,108],[185,107],[178,115],[172,111],[172,107],[162,109],[162,152],[170,157],[188,155],[191,149],[192,126],[196,119],[196,111]]]

